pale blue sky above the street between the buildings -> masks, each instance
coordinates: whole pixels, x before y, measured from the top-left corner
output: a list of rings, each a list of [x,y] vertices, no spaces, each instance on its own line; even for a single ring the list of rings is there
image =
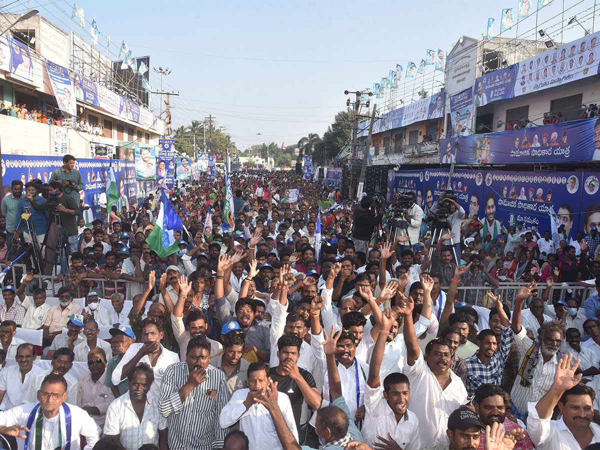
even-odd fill
[[[72,1],[36,3],[44,4],[43,16],[68,28]],[[481,38],[488,17],[496,17],[499,32],[502,8],[516,12],[517,3],[80,0],[77,6],[85,11],[88,38],[94,16],[101,34],[110,32],[113,59],[125,40],[134,56],[150,55],[151,65],[172,70],[163,88],[181,94],[172,102],[174,127],[211,113],[238,148],[245,148],[271,141],[289,145],[309,132],[322,135],[346,107],[344,90],[372,88],[396,62],[418,64],[428,48],[449,52],[461,35]],[[555,3],[539,13],[538,22],[548,20],[547,28],[554,25],[560,37],[555,24],[562,19],[562,2]],[[568,16],[593,7],[594,1],[566,1],[565,8],[577,3],[565,13],[565,25]],[[9,6],[15,9],[23,7]],[[592,28],[588,14],[584,25]],[[524,30],[533,35],[535,16],[520,26],[519,35]],[[515,31],[505,35],[514,37]],[[565,41],[581,35],[581,29],[572,29]],[[425,80],[431,91],[430,68]],[[442,80],[439,73],[436,80]],[[152,71],[150,82],[160,89],[160,77]],[[157,110],[158,103],[155,96]]]

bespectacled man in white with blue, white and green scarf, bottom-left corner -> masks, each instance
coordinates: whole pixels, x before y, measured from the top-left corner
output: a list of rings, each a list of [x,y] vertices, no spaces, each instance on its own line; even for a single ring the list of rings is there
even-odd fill
[[[47,375],[37,391],[39,403],[34,401],[0,412],[0,422],[5,424],[0,433],[27,439],[31,449],[40,446],[37,440],[40,436],[46,443],[44,448],[63,448],[66,440],[71,450],[79,450],[81,437],[85,439],[85,448],[92,448],[98,440],[98,425],[83,409],[65,403],[67,392],[67,382],[62,376]],[[26,434],[25,428],[31,432]],[[69,431],[71,435],[67,437]],[[18,443],[19,449],[24,448],[24,440],[19,439]]]

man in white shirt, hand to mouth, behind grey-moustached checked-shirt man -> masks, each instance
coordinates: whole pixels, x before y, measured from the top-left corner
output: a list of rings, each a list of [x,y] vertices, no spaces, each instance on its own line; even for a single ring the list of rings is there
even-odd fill
[[[166,368],[179,362],[179,355],[165,349],[160,341],[163,338],[163,324],[154,319],[146,318],[142,321],[142,342],[131,344],[123,355],[121,362],[112,373],[113,385],[118,385],[127,377],[128,371],[136,367],[138,362],[145,362],[154,370],[154,383],[150,391],[158,398]]]

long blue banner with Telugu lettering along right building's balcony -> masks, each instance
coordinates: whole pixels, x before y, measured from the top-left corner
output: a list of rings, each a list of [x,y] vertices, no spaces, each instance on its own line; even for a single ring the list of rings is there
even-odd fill
[[[447,163],[447,151],[452,148],[452,154],[456,151],[456,162],[461,164],[600,160],[600,137],[594,137],[596,130],[600,135],[599,118],[445,138],[440,158]]]

